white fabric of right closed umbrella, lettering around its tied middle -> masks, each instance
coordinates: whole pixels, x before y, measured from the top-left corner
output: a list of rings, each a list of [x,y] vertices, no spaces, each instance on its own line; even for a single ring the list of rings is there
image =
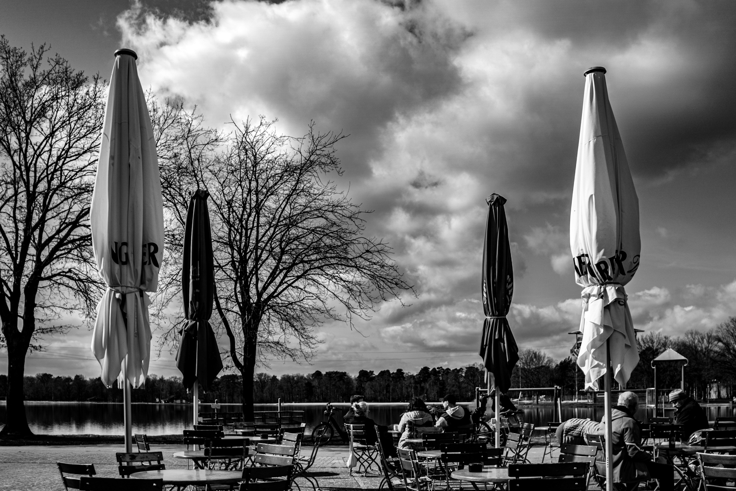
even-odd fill
[[[622,386],[639,362],[624,286],[639,267],[639,199],[606,89],[605,70],[586,72],[583,114],[570,211],[570,250],[583,287],[578,366],[586,388],[606,372]],[[596,71],[598,70],[598,71]]]

